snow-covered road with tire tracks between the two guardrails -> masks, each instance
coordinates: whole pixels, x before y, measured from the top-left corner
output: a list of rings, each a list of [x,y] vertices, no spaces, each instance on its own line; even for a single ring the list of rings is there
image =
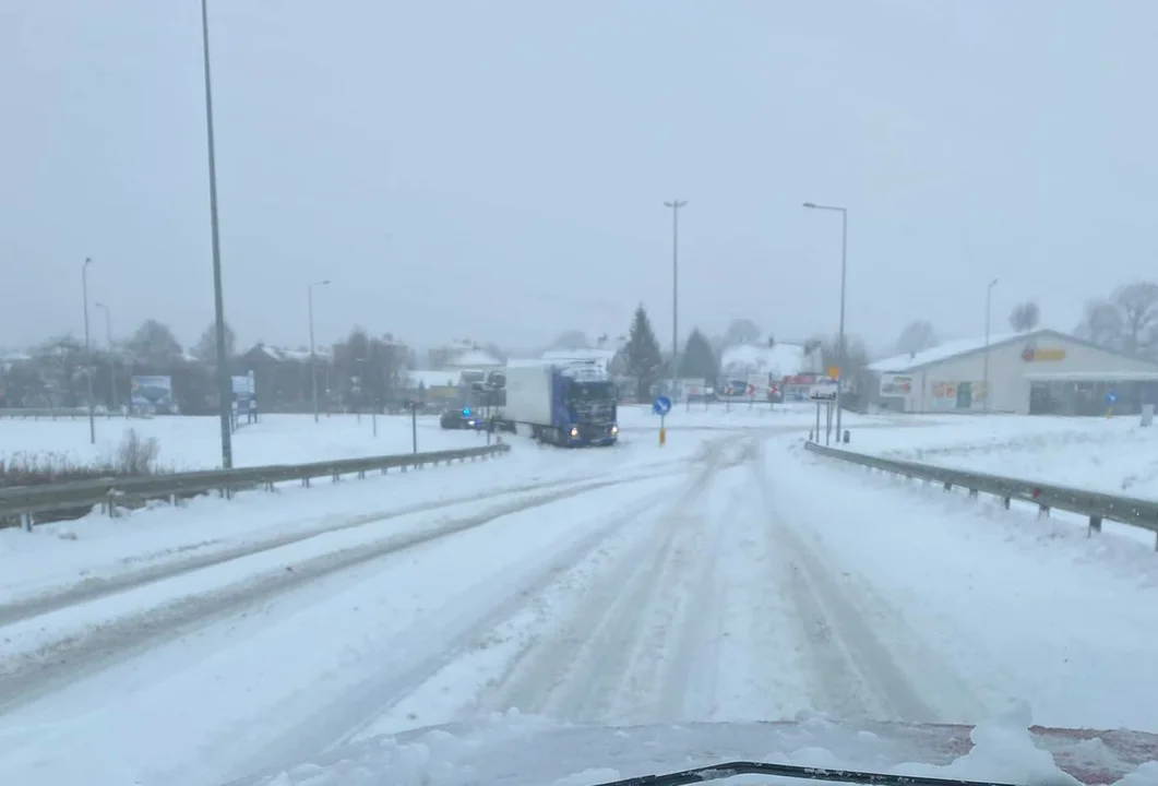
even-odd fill
[[[367,513],[0,608],[0,772],[220,784],[512,707],[972,722],[1025,698],[1042,722],[1158,723],[1149,574],[1019,543],[1003,527],[1028,519],[768,432],[696,439],[680,464],[628,453],[610,477]]]

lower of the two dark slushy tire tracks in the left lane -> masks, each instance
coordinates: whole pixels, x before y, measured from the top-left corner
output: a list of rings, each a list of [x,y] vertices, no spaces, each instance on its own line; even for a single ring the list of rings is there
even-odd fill
[[[482,527],[504,516],[642,479],[645,478],[588,483],[529,500],[519,500],[474,516],[456,519],[431,530],[393,534],[368,544],[256,574],[242,582],[188,596],[141,614],[119,617],[86,634],[52,642],[34,654],[19,656],[14,663],[5,664],[6,670],[0,674],[0,712],[10,711],[126,658],[178,639],[199,627],[236,615],[309,582]]]

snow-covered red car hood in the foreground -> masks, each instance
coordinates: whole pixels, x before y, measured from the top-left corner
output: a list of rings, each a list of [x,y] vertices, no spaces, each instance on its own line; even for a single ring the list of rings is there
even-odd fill
[[[1158,784],[1158,735],[1029,727],[1027,718],[603,728],[506,713],[373,737],[230,786],[589,786],[735,759],[1010,784]]]

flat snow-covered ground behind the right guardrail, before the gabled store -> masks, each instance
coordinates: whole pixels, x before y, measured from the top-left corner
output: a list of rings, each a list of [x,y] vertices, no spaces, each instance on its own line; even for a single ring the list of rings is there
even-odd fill
[[[921,416],[914,416],[919,420]],[[1058,485],[1158,498],[1158,428],[1137,417],[945,416],[926,428],[862,428],[850,448]]]

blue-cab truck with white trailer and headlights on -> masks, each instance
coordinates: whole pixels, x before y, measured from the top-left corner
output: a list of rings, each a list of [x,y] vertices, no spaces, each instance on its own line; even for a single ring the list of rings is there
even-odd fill
[[[503,421],[560,447],[615,445],[617,396],[607,370],[594,361],[511,361],[506,367]]]

